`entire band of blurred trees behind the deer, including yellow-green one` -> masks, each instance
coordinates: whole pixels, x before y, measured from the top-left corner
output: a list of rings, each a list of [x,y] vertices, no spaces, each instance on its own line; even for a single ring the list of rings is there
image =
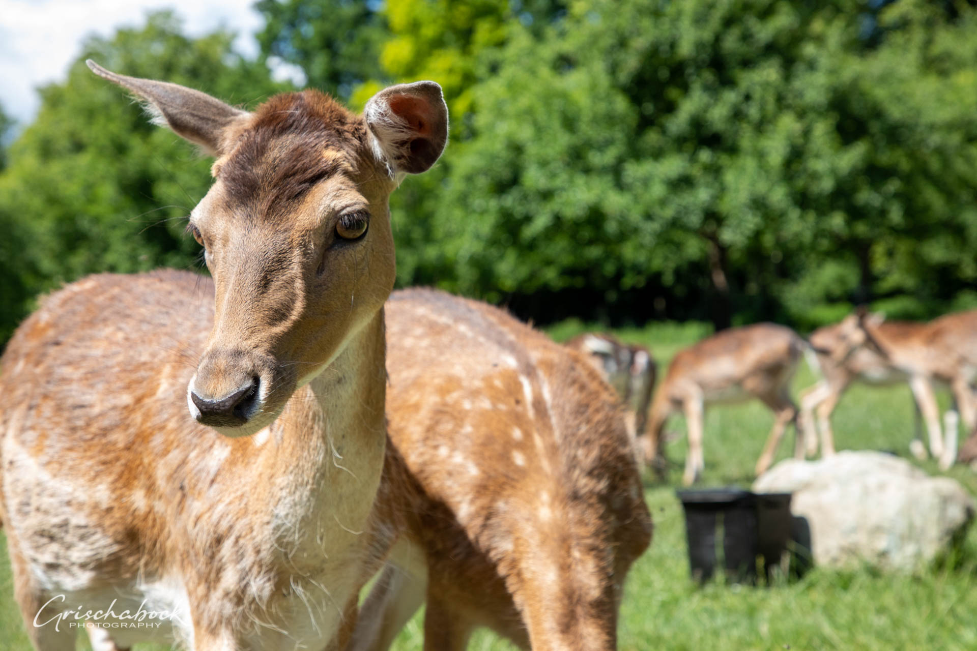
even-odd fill
[[[0,172],[0,338],[95,270],[194,265],[208,162],[86,57],[250,105],[269,61],[359,107],[445,88],[451,143],[392,212],[399,283],[536,322],[977,305],[977,12],[966,3],[261,0],[262,54],[157,14],[90,41]]]

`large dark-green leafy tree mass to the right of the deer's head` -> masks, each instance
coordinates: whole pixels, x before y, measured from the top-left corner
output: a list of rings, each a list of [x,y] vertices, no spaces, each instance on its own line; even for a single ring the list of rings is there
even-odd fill
[[[511,22],[431,217],[409,216],[405,280],[644,294],[646,316],[667,298],[719,327],[945,307],[973,278],[975,15],[903,0],[871,42],[864,18],[594,0],[541,33]]]

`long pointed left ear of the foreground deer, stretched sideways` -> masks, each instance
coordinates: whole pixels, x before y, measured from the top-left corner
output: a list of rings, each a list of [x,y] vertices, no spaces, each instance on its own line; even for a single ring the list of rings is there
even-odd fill
[[[95,61],[85,61],[92,72],[132,91],[147,102],[153,123],[167,126],[178,136],[195,142],[211,155],[220,155],[225,130],[250,115],[191,88],[116,74]]]

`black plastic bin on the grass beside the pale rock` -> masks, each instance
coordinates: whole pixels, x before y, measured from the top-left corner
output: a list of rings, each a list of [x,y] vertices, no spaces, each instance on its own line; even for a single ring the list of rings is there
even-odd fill
[[[763,558],[767,578],[780,566],[790,540],[790,494],[750,493],[736,488],[677,491],[685,509],[689,565],[697,581],[709,580],[716,566],[717,531],[723,565],[735,583],[756,581]]]

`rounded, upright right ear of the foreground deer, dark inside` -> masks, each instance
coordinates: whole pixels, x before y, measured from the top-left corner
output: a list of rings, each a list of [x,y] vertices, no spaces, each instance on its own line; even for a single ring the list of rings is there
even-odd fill
[[[445,150],[447,106],[433,81],[380,91],[366,102],[363,117],[374,153],[393,174],[420,174]]]

